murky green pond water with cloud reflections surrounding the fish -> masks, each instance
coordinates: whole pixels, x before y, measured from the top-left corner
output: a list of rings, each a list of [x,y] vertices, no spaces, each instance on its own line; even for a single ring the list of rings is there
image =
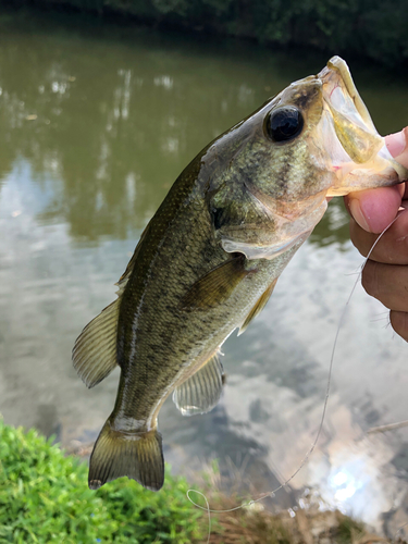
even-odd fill
[[[70,447],[96,437],[118,384],[114,372],[86,390],[71,366],[74,339],[113,300],[176,175],[326,59],[66,16],[3,14],[0,36],[0,411]],[[349,64],[380,132],[408,124],[408,81]],[[320,423],[360,263],[333,202],[261,317],[225,344],[217,409],[187,419],[164,405],[160,429],[174,470],[215,457],[223,473],[258,491],[296,471]],[[391,534],[408,521],[408,431],[366,434],[408,419],[408,348],[386,325],[384,308],[359,288],[319,446],[275,503],[294,507],[309,487]]]

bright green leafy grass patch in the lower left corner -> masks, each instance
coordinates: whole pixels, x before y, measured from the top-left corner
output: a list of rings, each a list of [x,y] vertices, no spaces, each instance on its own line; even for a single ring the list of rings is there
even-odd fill
[[[120,479],[97,492],[87,466],[35,430],[0,419],[0,543],[174,543],[202,541],[202,514],[188,484],[169,473],[159,493]],[[206,529],[205,529],[206,530]]]

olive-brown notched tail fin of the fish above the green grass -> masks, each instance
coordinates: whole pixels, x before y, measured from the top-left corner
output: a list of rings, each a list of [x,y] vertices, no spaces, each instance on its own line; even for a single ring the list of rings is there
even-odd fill
[[[104,423],[94,446],[89,461],[89,489],[127,475],[144,487],[159,491],[164,482],[164,459],[161,434],[157,430],[146,433],[122,433]]]

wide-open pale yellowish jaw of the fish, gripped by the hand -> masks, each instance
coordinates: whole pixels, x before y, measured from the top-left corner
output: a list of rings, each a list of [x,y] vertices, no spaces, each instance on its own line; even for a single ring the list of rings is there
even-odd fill
[[[326,196],[406,181],[408,171],[393,159],[376,132],[346,62],[333,57],[318,77],[324,106],[317,135],[324,143],[335,174]]]

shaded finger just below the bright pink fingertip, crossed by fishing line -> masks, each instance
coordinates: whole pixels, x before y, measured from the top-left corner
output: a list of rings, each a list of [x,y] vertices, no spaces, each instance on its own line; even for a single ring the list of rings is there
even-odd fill
[[[366,232],[354,219],[350,220],[351,242],[363,257],[368,256],[378,237],[378,234]],[[408,264],[408,210],[399,212],[395,223],[381,236],[370,260],[385,264]]]

